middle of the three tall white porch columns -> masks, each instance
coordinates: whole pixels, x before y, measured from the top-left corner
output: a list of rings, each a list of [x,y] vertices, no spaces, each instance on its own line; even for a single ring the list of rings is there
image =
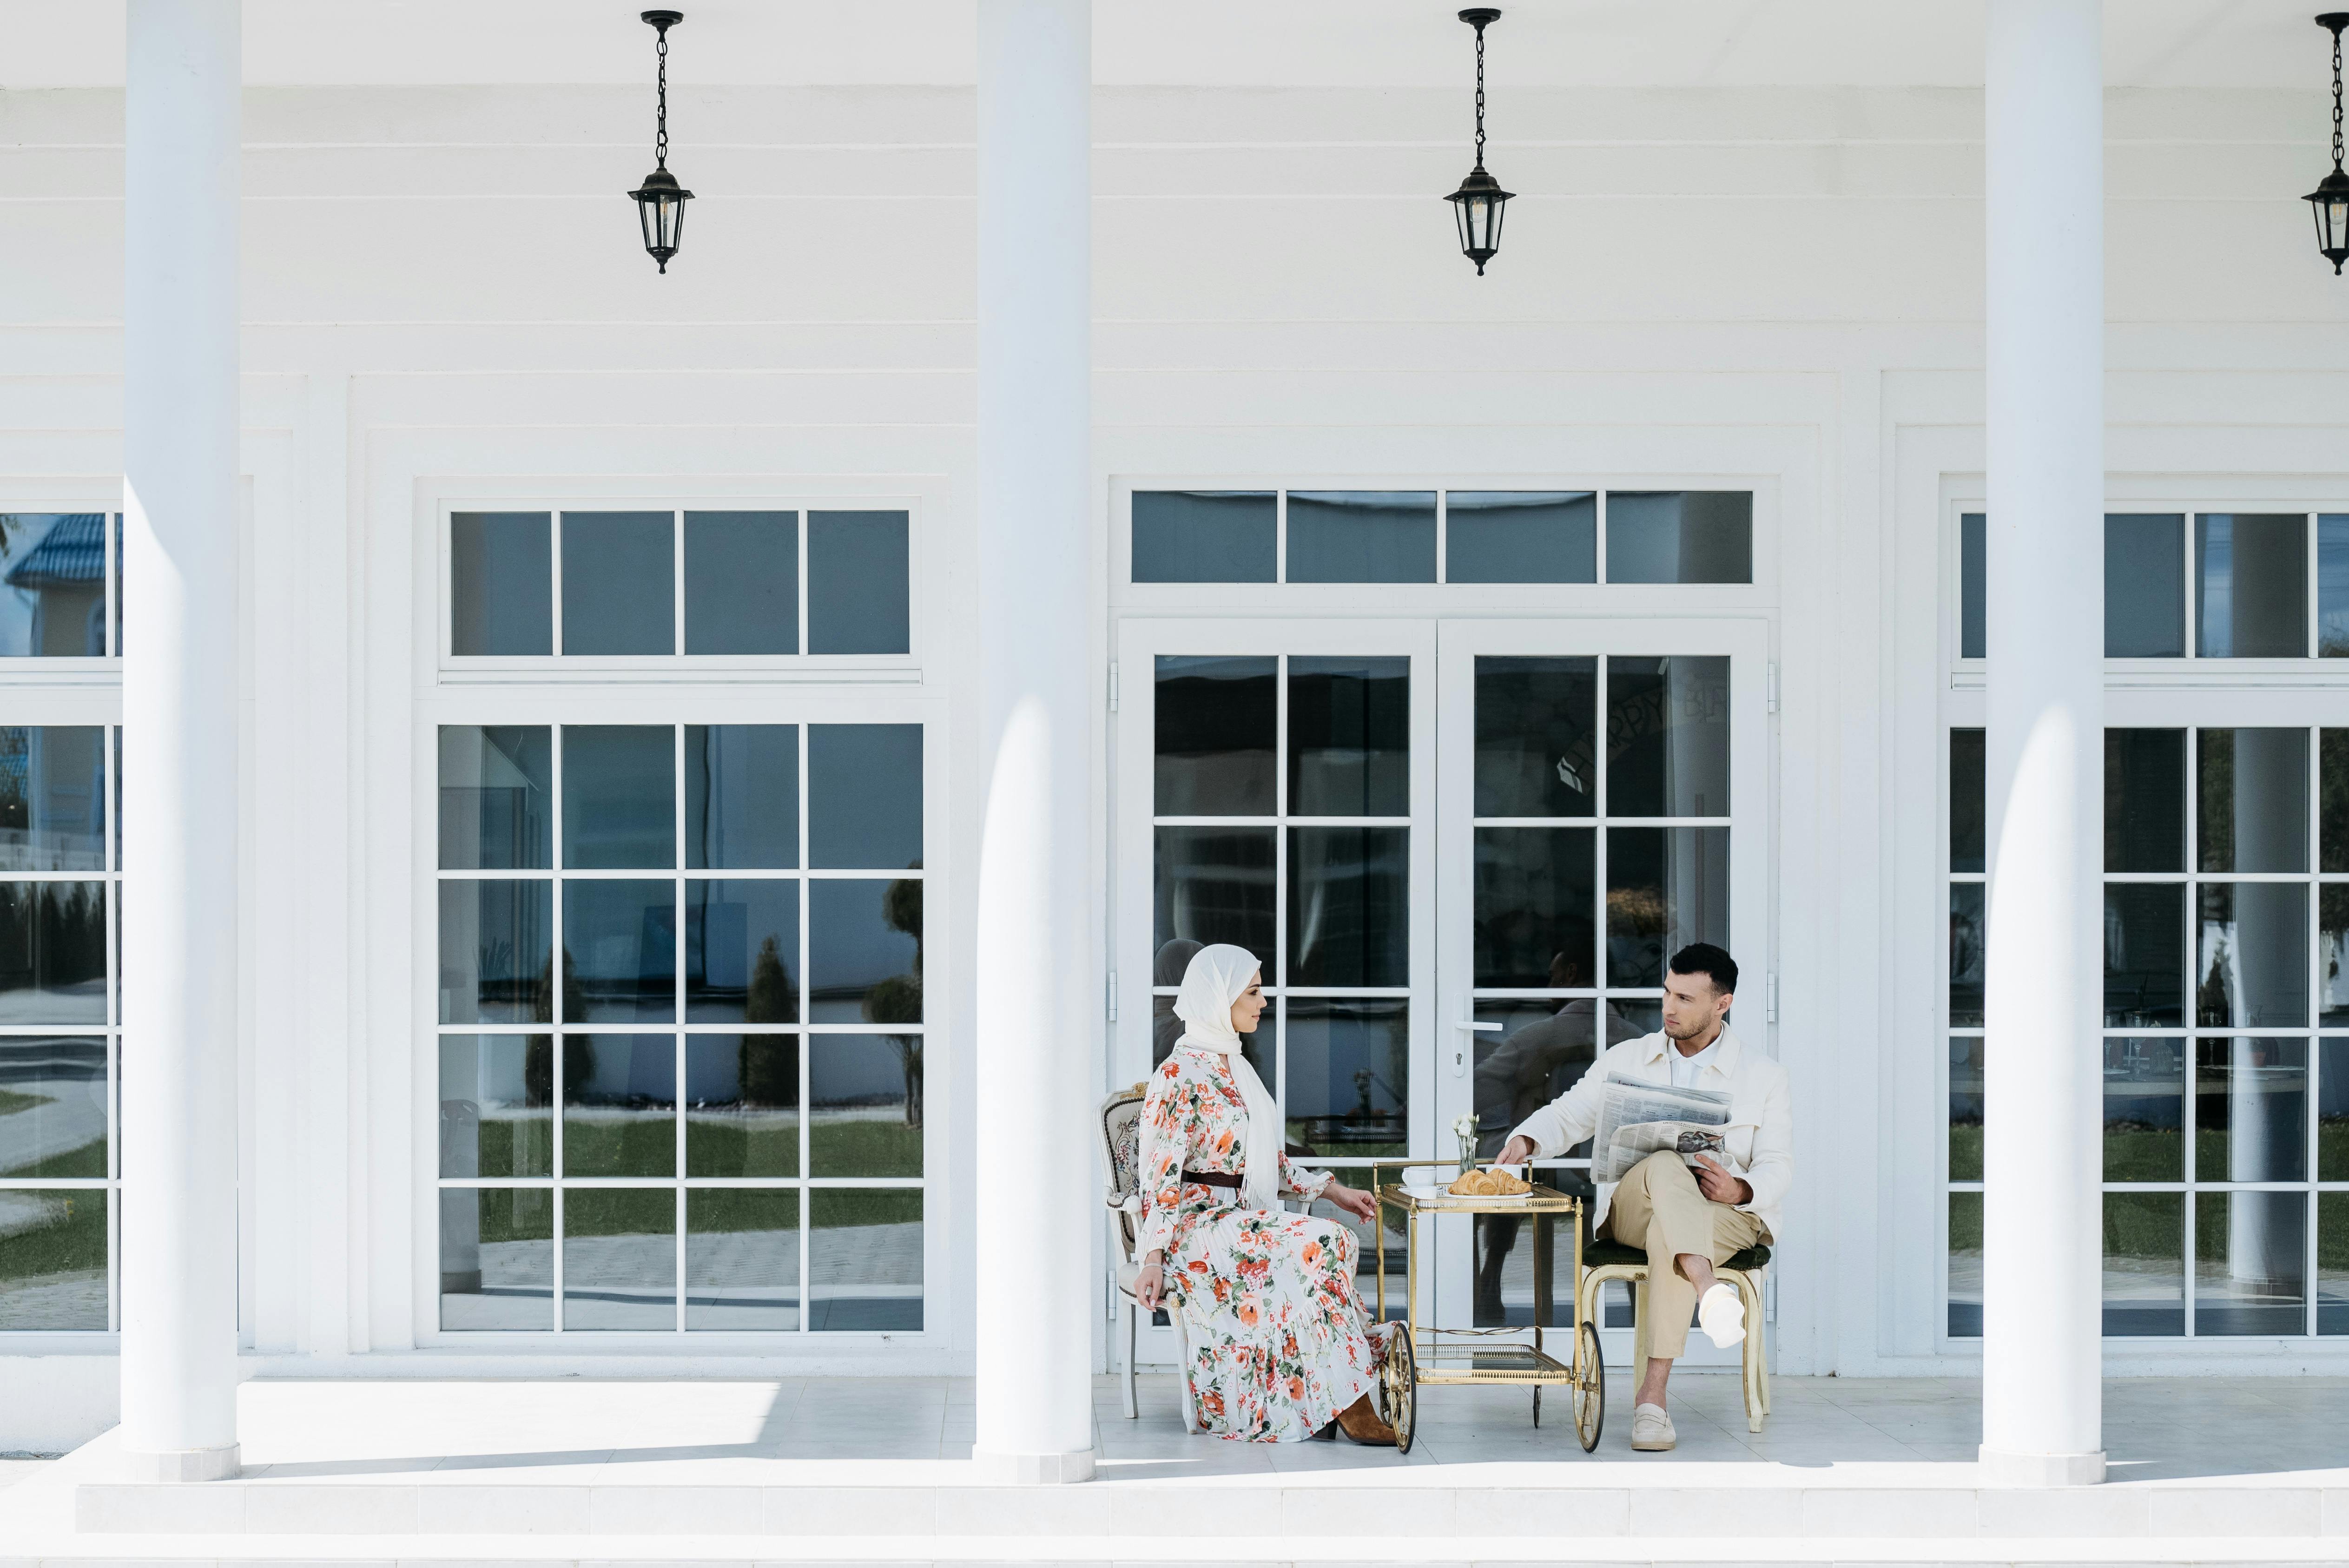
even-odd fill
[[[1017,1481],[1092,1476],[1090,99],[1090,0],[980,0],[975,1453]]]

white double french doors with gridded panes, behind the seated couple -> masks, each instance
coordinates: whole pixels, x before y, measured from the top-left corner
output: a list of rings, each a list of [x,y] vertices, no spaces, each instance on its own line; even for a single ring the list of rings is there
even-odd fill
[[[1499,1153],[1656,1028],[1687,941],[1731,948],[1759,1002],[1764,657],[1759,620],[1120,622],[1111,1080],[1172,1049],[1191,944],[1245,946],[1273,1005],[1243,1049],[1287,1141],[1365,1185],[1470,1122]],[[1447,1218],[1421,1244],[1426,1322],[1534,1322],[1529,1232]]]

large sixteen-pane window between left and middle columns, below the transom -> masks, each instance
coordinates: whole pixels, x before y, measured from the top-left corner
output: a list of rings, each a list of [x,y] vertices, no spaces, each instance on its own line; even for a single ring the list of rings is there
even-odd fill
[[[923,732],[439,730],[439,1324],[916,1331]]]

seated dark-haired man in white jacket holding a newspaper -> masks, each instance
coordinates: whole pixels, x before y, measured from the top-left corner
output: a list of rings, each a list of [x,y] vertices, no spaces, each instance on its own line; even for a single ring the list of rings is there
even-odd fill
[[[1515,1164],[1597,1138],[1593,1235],[1644,1249],[1649,1265],[1637,1303],[1647,1361],[1630,1418],[1640,1451],[1677,1441],[1663,1385],[1689,1347],[1691,1307],[1715,1345],[1745,1338],[1745,1305],[1712,1265],[1776,1235],[1795,1181],[1785,1068],[1729,1030],[1736,986],[1738,965],[1722,948],[1698,941],[1675,953],[1663,1030],[1609,1047],[1501,1148]]]

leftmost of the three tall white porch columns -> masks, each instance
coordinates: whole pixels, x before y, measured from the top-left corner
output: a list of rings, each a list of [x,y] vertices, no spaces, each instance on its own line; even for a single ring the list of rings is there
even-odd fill
[[[122,1453],[237,1472],[237,0],[129,0]]]

